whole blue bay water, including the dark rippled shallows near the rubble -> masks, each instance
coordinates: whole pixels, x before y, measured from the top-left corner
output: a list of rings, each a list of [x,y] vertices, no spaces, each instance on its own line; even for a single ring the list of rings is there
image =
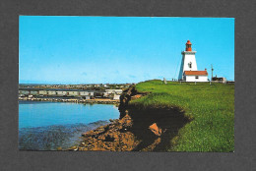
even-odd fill
[[[81,134],[118,118],[111,104],[20,101],[19,148],[67,149],[80,142]]]

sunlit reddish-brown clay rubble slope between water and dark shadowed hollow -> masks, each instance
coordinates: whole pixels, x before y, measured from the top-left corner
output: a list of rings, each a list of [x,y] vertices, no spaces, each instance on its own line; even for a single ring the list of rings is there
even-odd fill
[[[109,150],[130,151],[140,141],[128,130],[132,126],[132,119],[127,114],[120,120],[101,126],[83,135],[84,140],[79,146],[73,146],[71,150]]]

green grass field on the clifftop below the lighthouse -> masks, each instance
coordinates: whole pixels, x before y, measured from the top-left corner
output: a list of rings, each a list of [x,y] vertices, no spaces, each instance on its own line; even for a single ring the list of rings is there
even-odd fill
[[[234,85],[154,80],[136,89],[150,94],[130,101],[138,107],[178,107],[192,121],[170,140],[169,151],[234,151]]]

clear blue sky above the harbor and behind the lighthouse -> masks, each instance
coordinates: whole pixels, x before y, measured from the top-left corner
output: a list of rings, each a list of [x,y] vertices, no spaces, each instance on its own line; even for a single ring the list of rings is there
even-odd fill
[[[21,16],[20,84],[177,79],[187,40],[198,70],[234,80],[234,19]],[[209,76],[210,78],[210,76]]]

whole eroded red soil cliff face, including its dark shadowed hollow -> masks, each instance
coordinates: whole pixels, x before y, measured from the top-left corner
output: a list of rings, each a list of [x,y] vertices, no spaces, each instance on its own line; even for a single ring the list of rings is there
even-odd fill
[[[146,108],[129,105],[140,93],[130,86],[120,97],[120,119],[83,135],[70,150],[166,151],[188,119],[178,108]]]

